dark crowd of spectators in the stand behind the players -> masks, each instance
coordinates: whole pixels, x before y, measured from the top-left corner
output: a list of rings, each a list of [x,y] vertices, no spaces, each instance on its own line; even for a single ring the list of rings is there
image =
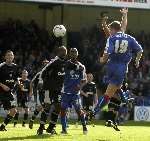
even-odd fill
[[[128,82],[132,92],[138,96],[137,105],[145,104],[144,96],[150,97],[150,33],[128,33],[136,37],[144,48],[140,68],[135,69],[134,65],[129,67]],[[68,47],[79,50],[80,61],[86,66],[87,72],[94,74],[99,88],[103,86],[105,72],[104,67],[99,64],[99,56],[105,42],[104,33],[97,25],[83,27],[78,33],[68,33]],[[3,53],[11,49],[15,52],[15,62],[26,68],[31,77],[39,71],[43,59],[50,60],[54,57],[53,50],[56,46],[55,38],[50,37],[48,31],[40,28],[34,21],[24,24],[20,20],[8,19],[0,23],[0,62],[3,60]],[[146,104],[150,104],[150,101]]]

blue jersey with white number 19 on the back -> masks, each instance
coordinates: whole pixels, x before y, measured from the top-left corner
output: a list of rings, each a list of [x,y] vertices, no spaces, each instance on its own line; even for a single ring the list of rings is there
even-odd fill
[[[141,45],[128,34],[118,32],[107,39],[105,53],[109,54],[110,63],[128,64],[132,54],[142,51]]]

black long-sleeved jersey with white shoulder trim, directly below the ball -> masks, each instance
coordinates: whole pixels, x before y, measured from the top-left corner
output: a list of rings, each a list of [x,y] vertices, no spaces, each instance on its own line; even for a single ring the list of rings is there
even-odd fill
[[[65,70],[77,68],[76,64],[62,60],[56,56],[55,59],[41,71],[44,89],[61,90],[64,83]]]

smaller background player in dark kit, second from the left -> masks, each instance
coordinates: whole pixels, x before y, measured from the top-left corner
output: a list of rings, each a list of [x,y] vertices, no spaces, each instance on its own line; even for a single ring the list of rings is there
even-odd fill
[[[28,79],[28,72],[26,70],[22,71],[21,78],[18,78],[18,85],[17,85],[17,113],[14,117],[14,127],[16,126],[19,118],[19,111],[22,109],[24,110],[24,119],[22,122],[22,126],[25,127],[25,123],[28,119],[29,108],[27,102],[29,102],[31,97],[31,90],[30,90],[30,80]]]

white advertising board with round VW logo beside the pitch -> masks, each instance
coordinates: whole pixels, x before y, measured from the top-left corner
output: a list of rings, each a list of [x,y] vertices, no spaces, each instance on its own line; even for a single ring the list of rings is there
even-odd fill
[[[135,106],[134,120],[135,121],[150,121],[150,106]]]

